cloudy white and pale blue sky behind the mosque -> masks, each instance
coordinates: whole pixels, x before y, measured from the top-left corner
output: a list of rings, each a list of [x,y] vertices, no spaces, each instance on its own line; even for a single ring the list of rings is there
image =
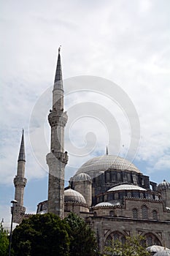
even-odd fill
[[[170,181],[170,2],[1,0],[0,221],[10,221],[22,129],[24,206],[47,200],[53,80],[61,45],[69,116],[65,184],[88,159],[125,157]]]

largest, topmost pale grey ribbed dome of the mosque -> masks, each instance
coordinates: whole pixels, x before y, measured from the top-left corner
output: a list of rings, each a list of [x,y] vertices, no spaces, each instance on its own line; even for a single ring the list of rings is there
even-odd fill
[[[136,173],[141,173],[140,170],[127,159],[123,157],[117,157],[112,155],[103,155],[101,157],[93,157],[85,162],[78,170],[76,174],[87,173],[91,178],[94,178],[105,170],[129,170]]]

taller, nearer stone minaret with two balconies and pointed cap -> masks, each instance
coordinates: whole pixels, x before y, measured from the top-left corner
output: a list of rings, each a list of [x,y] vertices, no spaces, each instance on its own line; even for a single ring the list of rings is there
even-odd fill
[[[61,72],[60,48],[53,86],[53,110],[50,110],[48,121],[51,127],[51,152],[47,154],[49,167],[48,179],[48,212],[64,217],[64,171],[68,161],[64,153],[64,127],[67,122],[63,112],[63,80]]]

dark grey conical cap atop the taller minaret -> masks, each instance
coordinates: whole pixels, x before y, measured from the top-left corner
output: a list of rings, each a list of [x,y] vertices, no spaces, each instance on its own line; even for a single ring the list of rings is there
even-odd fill
[[[55,72],[55,80],[54,80],[54,89],[61,89],[63,90],[63,78],[62,78],[62,71],[61,71],[61,47],[58,48],[58,61],[57,61],[57,68]]]

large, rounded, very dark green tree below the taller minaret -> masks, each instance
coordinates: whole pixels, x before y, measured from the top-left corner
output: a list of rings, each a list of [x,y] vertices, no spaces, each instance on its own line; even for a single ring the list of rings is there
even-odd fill
[[[69,255],[69,227],[55,214],[36,214],[15,228],[12,249],[16,256]]]

